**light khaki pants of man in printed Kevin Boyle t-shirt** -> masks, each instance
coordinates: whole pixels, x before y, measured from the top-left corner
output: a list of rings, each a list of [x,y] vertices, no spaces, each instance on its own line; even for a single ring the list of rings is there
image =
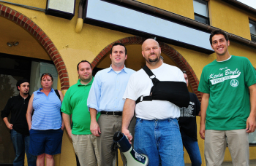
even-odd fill
[[[223,131],[206,130],[206,165],[222,165],[227,144],[232,157],[233,166],[249,166],[249,141],[248,133],[246,133],[245,129]]]

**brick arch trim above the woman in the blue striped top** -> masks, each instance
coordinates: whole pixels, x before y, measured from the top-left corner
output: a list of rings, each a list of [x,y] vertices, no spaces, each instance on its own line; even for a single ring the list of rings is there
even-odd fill
[[[41,28],[37,24],[35,24],[29,17],[21,14],[20,12],[11,9],[10,7],[6,7],[3,4],[0,4],[0,16],[11,20],[12,22],[20,25],[26,31],[28,31],[35,39],[45,48],[50,58],[53,60],[55,64],[59,78],[61,80],[61,90],[69,89],[69,76],[67,74],[67,68],[65,66],[64,61],[59,54],[59,51],[50,40],[50,38],[42,31]]]

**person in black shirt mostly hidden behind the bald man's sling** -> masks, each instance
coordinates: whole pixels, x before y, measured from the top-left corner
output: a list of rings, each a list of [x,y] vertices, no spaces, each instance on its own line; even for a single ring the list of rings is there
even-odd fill
[[[182,72],[188,86],[189,80],[186,71]],[[202,159],[197,143],[196,121],[196,116],[200,116],[200,102],[195,93],[189,92],[189,97],[189,106],[187,108],[180,108],[181,116],[178,119],[178,125],[180,125],[182,142],[189,154],[192,166],[200,166],[202,164]]]

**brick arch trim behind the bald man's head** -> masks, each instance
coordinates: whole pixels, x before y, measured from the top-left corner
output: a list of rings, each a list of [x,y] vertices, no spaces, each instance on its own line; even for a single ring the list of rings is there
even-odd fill
[[[119,39],[109,44],[101,52],[99,52],[97,57],[94,58],[94,60],[92,61],[91,66],[94,68],[97,65],[97,63],[99,63],[99,60],[101,60],[110,51],[111,47],[116,42],[122,43],[124,45],[129,45],[129,44],[143,44],[145,40],[146,40],[145,38],[138,37],[138,36]],[[159,45],[161,47],[161,52],[167,55],[169,58],[171,58],[176,63],[178,68],[180,68],[182,71],[187,71],[189,84],[191,85],[193,92],[197,95],[197,98],[201,100],[202,99],[201,93],[197,91],[199,80],[197,79],[195,72],[193,71],[192,67],[189,65],[187,60],[180,53],[178,53],[175,49],[168,46],[167,44],[159,42]]]

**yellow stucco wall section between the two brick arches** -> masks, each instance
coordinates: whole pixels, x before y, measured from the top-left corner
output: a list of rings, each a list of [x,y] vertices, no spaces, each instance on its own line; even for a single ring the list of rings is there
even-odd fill
[[[20,1],[12,2],[20,3]],[[24,2],[26,5],[40,8],[45,8],[45,3],[45,1],[44,3],[41,1],[41,4],[35,5],[32,1]],[[76,9],[78,9],[78,3],[79,1],[77,1]],[[92,61],[108,44],[118,39],[131,36],[127,33],[112,31],[107,28],[99,28],[87,24],[83,24],[83,30],[81,33],[75,33],[75,25],[78,17],[77,12],[72,20],[66,20],[59,17],[45,15],[44,12],[16,7],[11,4],[4,5],[18,10],[18,12],[21,12],[23,15],[30,17],[31,20],[33,20],[34,23],[36,23],[42,31],[45,31],[45,33],[50,37],[53,44],[55,44],[56,48],[59,50],[61,58],[64,60],[67,67],[70,85],[75,84],[78,80],[76,64],[78,64],[80,60],[86,59]]]

